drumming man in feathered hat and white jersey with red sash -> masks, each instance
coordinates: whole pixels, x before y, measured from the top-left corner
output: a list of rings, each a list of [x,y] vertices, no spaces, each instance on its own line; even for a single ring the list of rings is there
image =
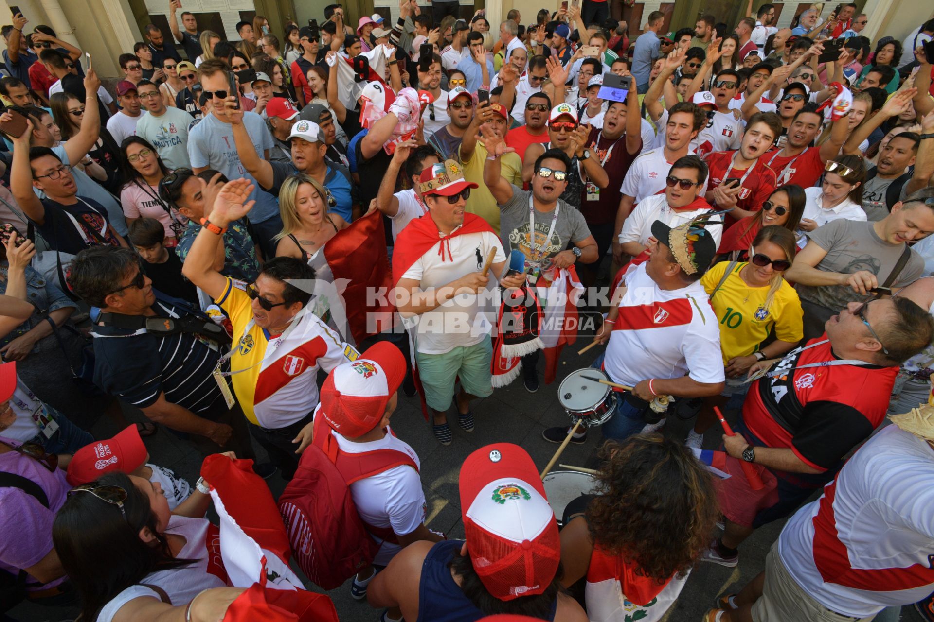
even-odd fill
[[[697,222],[670,228],[652,225],[648,261],[627,270],[615,305],[594,340],[609,340],[603,370],[610,380],[633,387],[619,395],[603,435],[638,434],[658,413],[649,404],[659,395],[701,397],[723,391],[720,334],[701,285],[716,244]],[[656,426],[658,428],[660,426]],[[560,442],[565,428],[549,428],[545,440]],[[585,434],[575,435],[582,443]]]

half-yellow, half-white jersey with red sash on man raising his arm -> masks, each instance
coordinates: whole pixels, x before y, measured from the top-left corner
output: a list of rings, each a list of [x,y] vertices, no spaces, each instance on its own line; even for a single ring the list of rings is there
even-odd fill
[[[284,428],[318,406],[318,368],[330,372],[359,353],[304,307],[282,335],[253,323],[245,283],[227,279],[216,300],[233,323],[231,380],[251,423]]]

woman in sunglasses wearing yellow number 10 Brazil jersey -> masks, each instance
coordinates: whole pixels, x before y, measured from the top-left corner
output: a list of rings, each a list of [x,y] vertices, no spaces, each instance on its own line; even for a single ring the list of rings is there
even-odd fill
[[[798,250],[795,242],[795,234],[781,225],[763,227],[750,244],[748,262],[722,261],[701,277],[720,326],[727,386],[704,398],[687,433],[689,447],[701,447],[704,432],[716,421],[715,407],[731,408],[730,401],[742,405],[751,366],[782,356],[803,338],[801,301],[784,276]],[[775,339],[763,345],[772,330]]]

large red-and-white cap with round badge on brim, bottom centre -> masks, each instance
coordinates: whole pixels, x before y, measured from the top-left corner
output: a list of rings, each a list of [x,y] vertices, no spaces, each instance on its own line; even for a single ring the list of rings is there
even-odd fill
[[[484,587],[501,601],[541,594],[561,559],[555,513],[525,449],[495,443],[460,467],[467,551]]]

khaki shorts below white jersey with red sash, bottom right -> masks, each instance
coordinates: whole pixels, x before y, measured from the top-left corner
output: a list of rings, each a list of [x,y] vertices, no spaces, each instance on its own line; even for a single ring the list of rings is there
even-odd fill
[[[765,558],[765,585],[762,586],[762,596],[753,604],[752,616],[754,622],[870,622],[875,617],[837,614],[814,601],[785,569],[778,554],[778,540],[772,544]]]

